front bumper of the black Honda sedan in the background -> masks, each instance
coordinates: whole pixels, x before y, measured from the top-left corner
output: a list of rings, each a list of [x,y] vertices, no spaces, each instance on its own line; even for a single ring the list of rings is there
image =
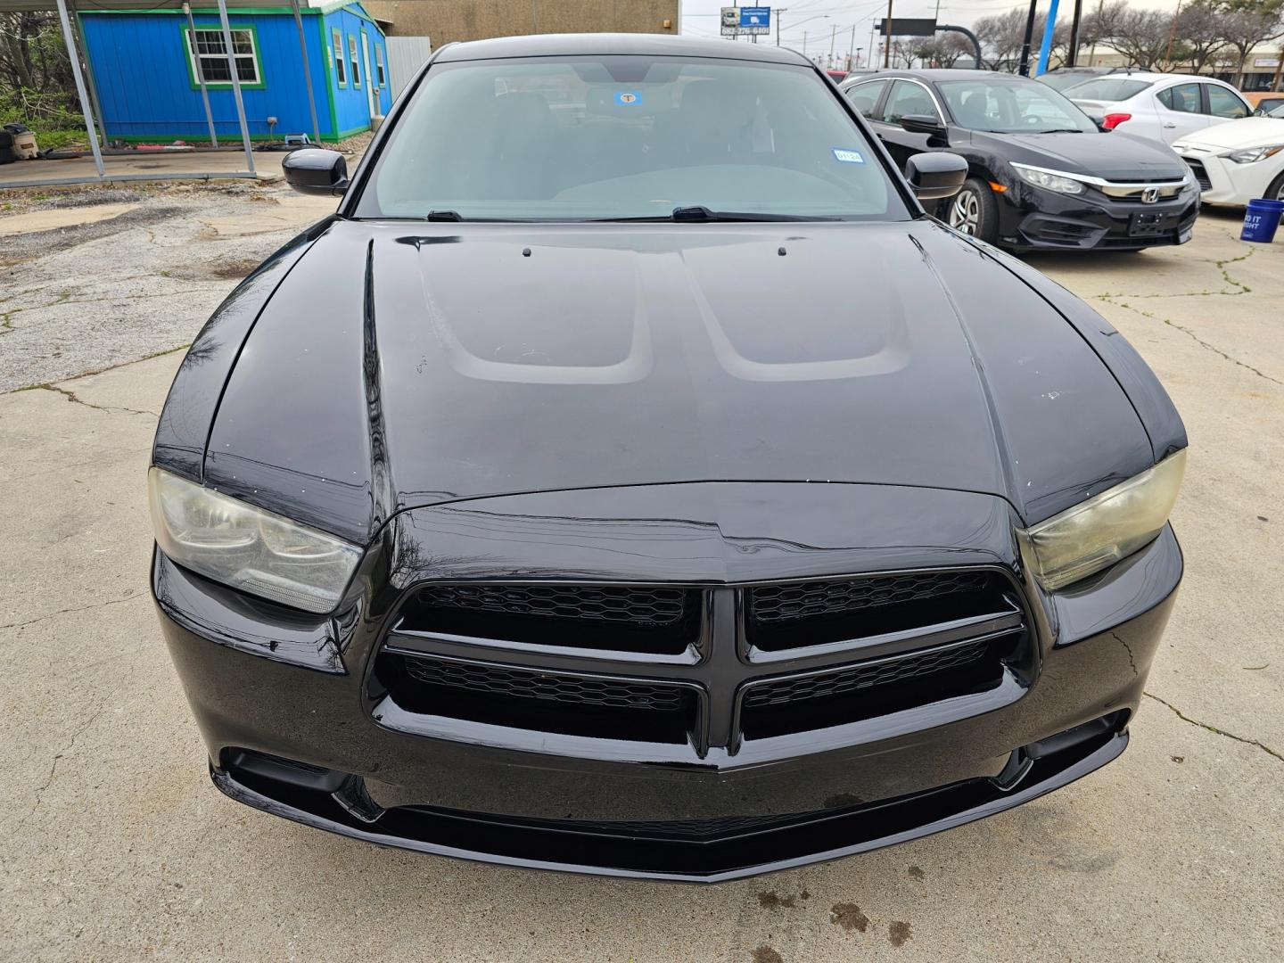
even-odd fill
[[[1016,250],[1140,250],[1185,244],[1198,214],[1199,196],[1190,190],[1145,204],[1019,182],[999,195],[999,243]]]

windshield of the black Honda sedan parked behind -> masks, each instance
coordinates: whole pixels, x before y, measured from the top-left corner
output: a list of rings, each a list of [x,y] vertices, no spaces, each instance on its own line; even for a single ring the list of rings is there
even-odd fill
[[[960,127],[994,134],[1097,130],[1082,110],[1055,90],[1027,81],[942,81],[936,85]]]

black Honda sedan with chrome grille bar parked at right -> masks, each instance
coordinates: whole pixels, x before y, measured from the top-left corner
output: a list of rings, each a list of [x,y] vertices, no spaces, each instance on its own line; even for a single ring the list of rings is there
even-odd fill
[[[1106,134],[1027,77],[977,71],[882,72],[844,85],[899,163],[923,150],[968,162],[942,204],[953,227],[1013,250],[1143,250],[1184,244],[1199,190],[1162,144]]]

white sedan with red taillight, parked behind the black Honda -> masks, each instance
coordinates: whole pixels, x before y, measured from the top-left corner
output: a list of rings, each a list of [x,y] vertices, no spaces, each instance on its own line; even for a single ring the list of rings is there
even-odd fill
[[[1190,73],[1107,74],[1062,91],[1107,130],[1172,144],[1253,108],[1229,83]]]

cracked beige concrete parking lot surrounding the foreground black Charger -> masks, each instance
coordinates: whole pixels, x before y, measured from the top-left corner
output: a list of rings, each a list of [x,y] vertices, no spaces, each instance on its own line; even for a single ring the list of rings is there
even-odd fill
[[[1184,248],[1034,258],[1190,435],[1186,579],[1129,751],[940,836],[691,887],[381,850],[211,786],[148,596],[155,412],[177,348],[327,205],[0,195],[0,959],[1280,958],[1284,239],[1207,212]]]

